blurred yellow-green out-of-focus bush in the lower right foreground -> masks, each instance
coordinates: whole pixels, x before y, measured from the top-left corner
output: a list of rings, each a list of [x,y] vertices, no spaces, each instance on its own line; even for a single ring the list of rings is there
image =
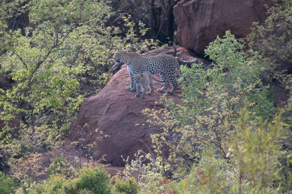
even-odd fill
[[[281,180],[279,140],[285,131],[281,128],[281,114],[275,115],[272,123],[260,120],[258,126],[250,126],[249,118],[244,114],[242,110],[229,148],[239,169],[239,192],[267,193],[270,189],[277,189]]]

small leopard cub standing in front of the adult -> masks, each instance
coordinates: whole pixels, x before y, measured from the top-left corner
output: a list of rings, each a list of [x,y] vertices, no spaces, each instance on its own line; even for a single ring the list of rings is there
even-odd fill
[[[153,86],[153,81],[159,82],[159,83],[164,83],[163,81],[155,79],[150,72],[144,72],[144,73],[138,73],[138,74],[133,74],[134,75],[134,80],[136,83],[136,89],[137,89],[137,94],[135,97],[140,97],[141,100],[145,99],[145,93],[147,86],[150,87],[150,92],[147,92],[148,95],[152,95],[154,91],[154,86]],[[142,95],[140,91],[140,87],[142,87]]]

